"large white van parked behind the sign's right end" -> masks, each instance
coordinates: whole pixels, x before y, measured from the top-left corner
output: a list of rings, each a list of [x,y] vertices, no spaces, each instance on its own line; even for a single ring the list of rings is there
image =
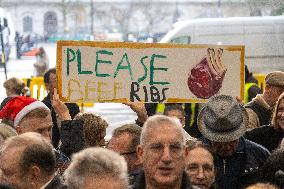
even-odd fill
[[[250,71],[284,71],[284,16],[181,21],[160,42],[245,45],[245,63]]]

